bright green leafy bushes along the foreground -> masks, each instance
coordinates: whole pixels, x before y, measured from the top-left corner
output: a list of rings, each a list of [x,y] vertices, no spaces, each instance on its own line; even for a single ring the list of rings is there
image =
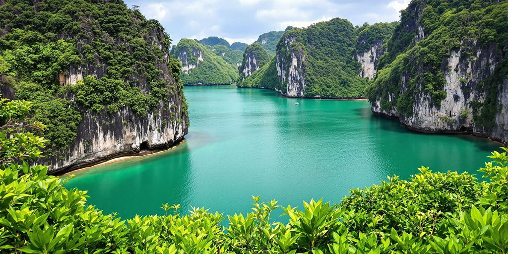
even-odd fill
[[[493,152],[480,169],[433,173],[351,190],[339,205],[322,200],[302,209],[253,197],[252,212],[228,215],[163,205],[165,215],[121,220],[86,206],[68,178],[29,166],[44,128],[25,115],[30,104],[0,103],[0,253],[506,253],[508,156]],[[283,209],[288,224],[271,221]]]

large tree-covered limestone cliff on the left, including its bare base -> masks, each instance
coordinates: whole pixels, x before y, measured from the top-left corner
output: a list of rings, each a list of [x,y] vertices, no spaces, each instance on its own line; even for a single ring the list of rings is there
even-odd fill
[[[30,3],[0,1],[4,13],[30,13],[0,22],[2,37],[37,38],[1,43],[8,68],[0,91],[33,103],[30,116],[46,125],[49,140],[38,163],[49,173],[183,139],[189,120],[180,65],[158,21],[122,1]],[[35,25],[47,17],[56,18]],[[37,61],[21,62],[19,52]]]

